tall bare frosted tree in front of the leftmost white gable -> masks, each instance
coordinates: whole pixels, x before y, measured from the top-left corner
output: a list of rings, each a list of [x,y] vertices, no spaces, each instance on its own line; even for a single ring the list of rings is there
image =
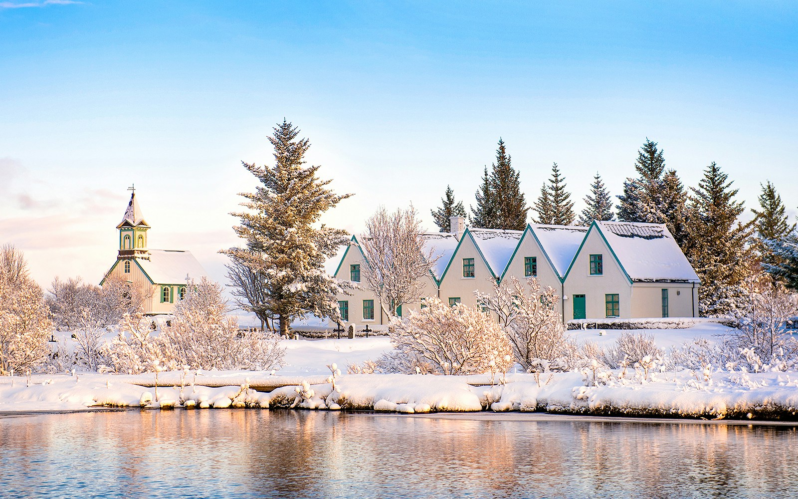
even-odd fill
[[[413,205],[389,213],[380,207],[365,222],[360,240],[365,255],[362,286],[371,291],[385,314],[396,316],[405,303],[419,303],[440,255],[425,251],[421,220]]]

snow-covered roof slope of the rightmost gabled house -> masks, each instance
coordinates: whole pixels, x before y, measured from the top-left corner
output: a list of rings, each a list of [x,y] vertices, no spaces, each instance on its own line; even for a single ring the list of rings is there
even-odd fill
[[[699,282],[664,224],[596,221],[596,227],[632,281]]]

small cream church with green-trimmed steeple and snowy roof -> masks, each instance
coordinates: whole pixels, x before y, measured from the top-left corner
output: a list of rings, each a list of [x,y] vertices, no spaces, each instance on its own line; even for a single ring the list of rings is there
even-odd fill
[[[100,285],[114,275],[140,287],[148,295],[144,302],[144,313],[170,313],[175,302],[185,295],[186,281],[207,275],[191,251],[148,248],[147,232],[150,226],[144,220],[135,191],[130,196],[128,208],[124,210],[117,229],[117,261]]]

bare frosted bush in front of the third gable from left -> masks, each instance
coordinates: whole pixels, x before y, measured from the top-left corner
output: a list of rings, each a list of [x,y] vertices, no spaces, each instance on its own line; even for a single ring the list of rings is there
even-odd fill
[[[527,286],[511,277],[509,283],[495,284],[493,293],[475,291],[477,303],[499,317],[512,352],[527,372],[565,368],[575,350],[565,335],[563,319],[555,307],[559,296],[551,287],[541,289],[538,279]]]

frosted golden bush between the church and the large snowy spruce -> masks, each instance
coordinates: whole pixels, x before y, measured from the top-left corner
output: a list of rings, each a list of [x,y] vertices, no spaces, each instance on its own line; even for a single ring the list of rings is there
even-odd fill
[[[203,278],[189,282],[187,293],[175,305],[174,315],[161,329],[166,351],[180,366],[191,369],[270,370],[279,368],[285,349],[271,332],[239,331],[238,320],[226,315],[229,308],[222,287]]]

